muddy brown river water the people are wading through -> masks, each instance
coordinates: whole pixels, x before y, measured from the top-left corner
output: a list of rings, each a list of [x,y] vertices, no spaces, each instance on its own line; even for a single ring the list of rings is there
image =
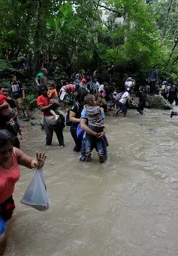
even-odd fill
[[[22,149],[46,150],[51,207],[20,204],[31,174],[21,168],[5,256],[178,255],[178,117],[129,110],[107,117],[106,129],[109,159],[100,165],[95,153],[78,161],[68,132],[65,148],[45,148],[44,132],[29,128]]]

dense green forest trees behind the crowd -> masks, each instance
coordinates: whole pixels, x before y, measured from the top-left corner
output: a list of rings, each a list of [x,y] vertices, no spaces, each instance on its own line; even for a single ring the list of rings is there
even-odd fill
[[[0,0],[1,79],[35,76],[45,63],[59,80],[75,69],[178,79],[177,0]],[[26,58],[26,67],[20,60]]]

